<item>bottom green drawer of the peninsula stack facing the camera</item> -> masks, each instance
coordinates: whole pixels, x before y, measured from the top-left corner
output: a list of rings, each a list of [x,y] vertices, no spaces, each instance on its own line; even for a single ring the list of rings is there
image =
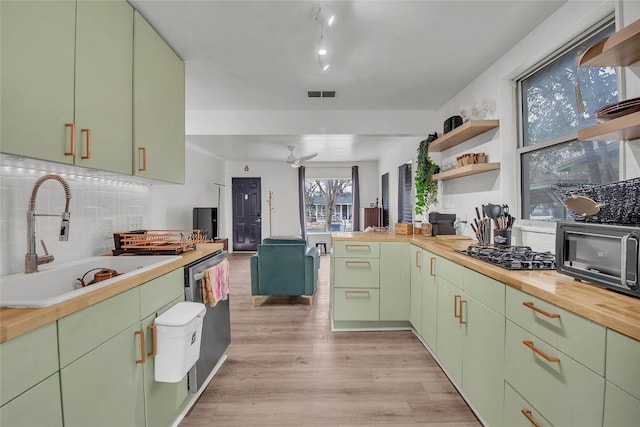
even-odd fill
[[[379,320],[380,290],[333,289],[333,320]]]

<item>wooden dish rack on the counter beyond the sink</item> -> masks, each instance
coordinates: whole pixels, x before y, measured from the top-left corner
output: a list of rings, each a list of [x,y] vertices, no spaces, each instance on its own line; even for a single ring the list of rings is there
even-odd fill
[[[114,233],[113,255],[178,255],[205,242],[200,230],[139,230]]]

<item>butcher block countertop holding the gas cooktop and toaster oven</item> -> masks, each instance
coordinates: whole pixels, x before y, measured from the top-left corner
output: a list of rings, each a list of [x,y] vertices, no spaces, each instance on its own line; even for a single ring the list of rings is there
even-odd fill
[[[640,340],[640,298],[588,285],[553,270],[506,270],[454,252],[475,240],[403,236],[392,233],[332,233],[334,241],[410,242],[603,326]]]

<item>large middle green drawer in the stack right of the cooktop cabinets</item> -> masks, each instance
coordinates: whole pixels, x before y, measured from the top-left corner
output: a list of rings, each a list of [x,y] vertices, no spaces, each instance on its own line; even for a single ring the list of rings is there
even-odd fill
[[[558,360],[545,360],[524,342]],[[505,380],[553,425],[602,425],[604,378],[511,321],[507,321]]]

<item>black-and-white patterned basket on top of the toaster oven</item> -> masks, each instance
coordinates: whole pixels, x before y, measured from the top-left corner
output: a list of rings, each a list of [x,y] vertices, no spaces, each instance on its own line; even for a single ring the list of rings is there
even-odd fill
[[[640,178],[617,181],[609,184],[574,184],[559,182],[549,187],[551,191],[567,207],[567,213],[576,221],[599,222],[610,224],[640,224]],[[597,212],[575,212],[571,209],[573,201],[578,198],[590,199],[597,205]],[[574,208],[583,206],[573,205]],[[595,211],[595,209],[594,209]]]

